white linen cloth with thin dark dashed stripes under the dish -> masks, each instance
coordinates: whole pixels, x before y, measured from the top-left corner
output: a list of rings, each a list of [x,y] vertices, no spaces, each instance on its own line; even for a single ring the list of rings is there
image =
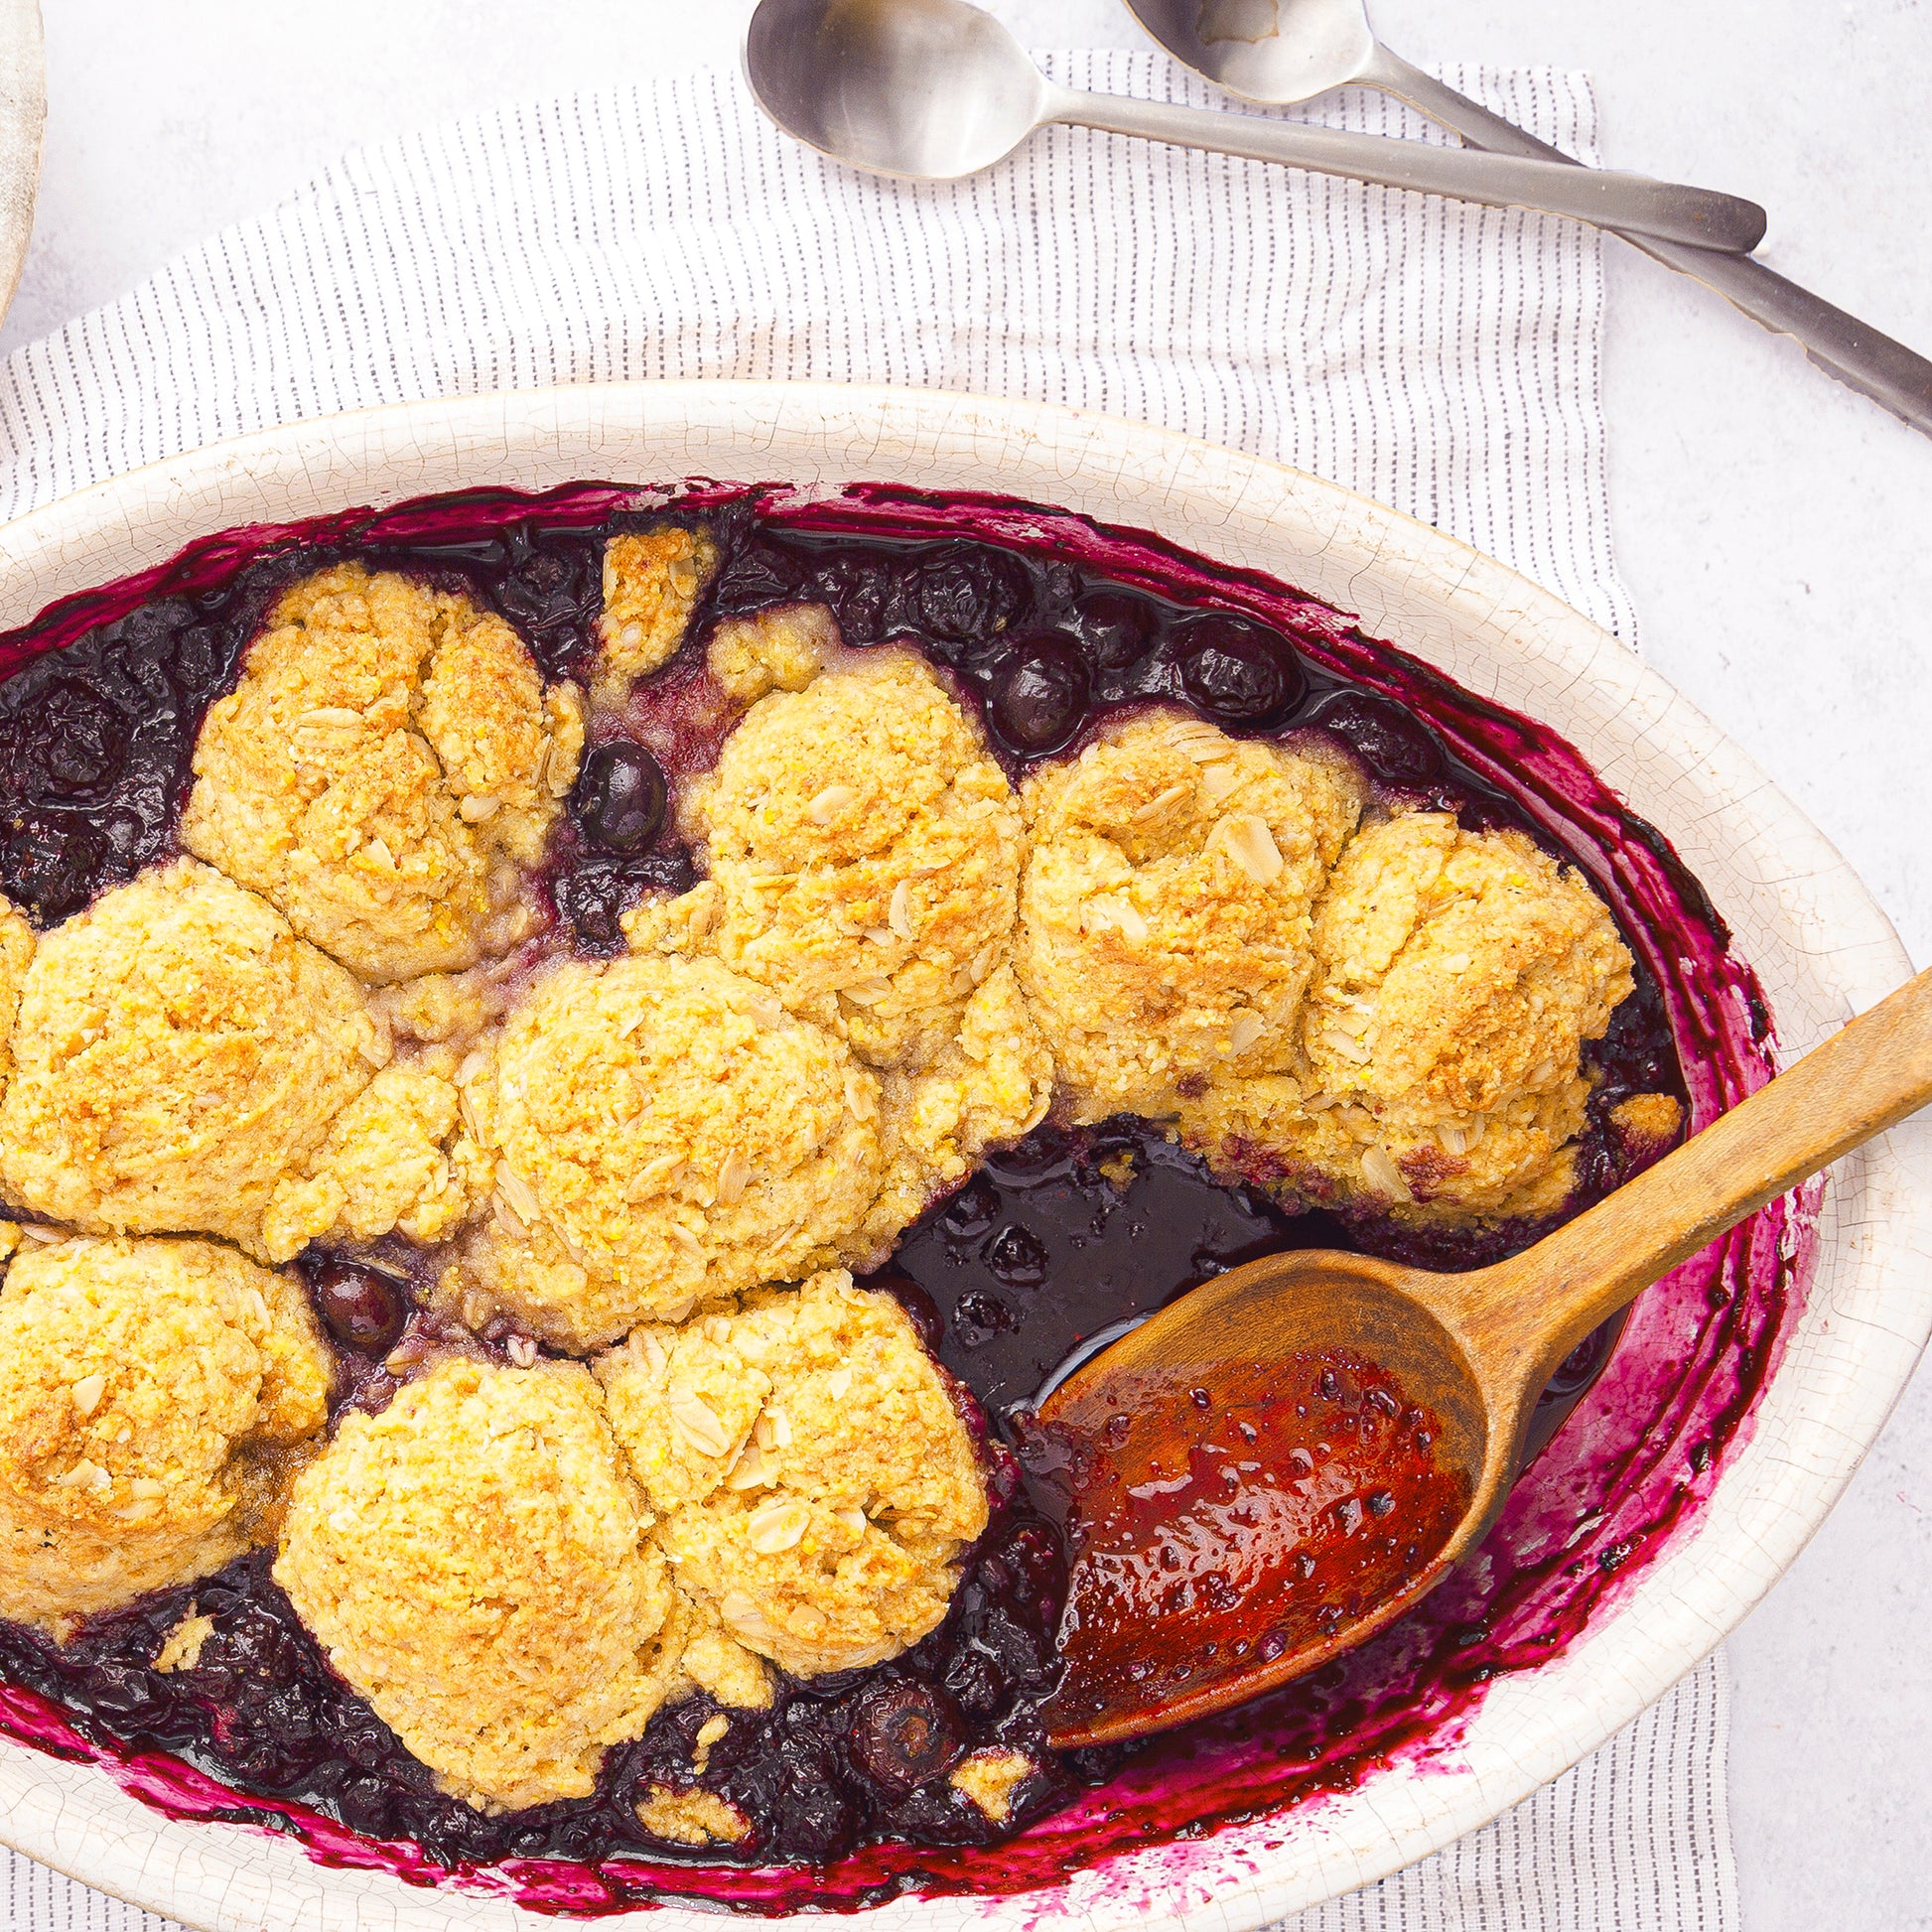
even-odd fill
[[[1227,104],[1155,54],[1076,87]],[[1580,75],[1451,70],[1578,158]],[[1345,91],[1298,118],[1435,135]],[[1140,417],[1333,477],[1634,641],[1592,230],[1053,129],[970,182],[848,174],[744,83],[585,93],[352,155],[0,369],[0,518],[220,437],[624,377],[900,383]],[[1283,1932],[1735,1932],[1721,1658],[1476,1832]],[[19,1932],[162,1920],[0,1864]]]

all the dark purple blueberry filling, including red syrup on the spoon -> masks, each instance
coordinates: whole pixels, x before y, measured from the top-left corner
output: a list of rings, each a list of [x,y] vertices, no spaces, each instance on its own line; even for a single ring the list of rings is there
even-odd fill
[[[70,597],[0,638],[0,891],[48,925],[174,850],[201,717],[299,576],[363,558],[464,589],[518,628],[545,676],[583,676],[605,537],[667,514],[703,518],[721,566],[686,649],[593,728],[545,881],[580,951],[622,951],[630,906],[699,877],[668,798],[715,759],[734,715],[705,674],[709,624],[821,601],[850,647],[922,651],[978,711],[1014,781],[1136,707],[1180,705],[1242,736],[1325,740],[1389,804],[1517,827],[1577,864],[1636,956],[1636,993],[1586,1049],[1590,1130],[1573,1208],[1658,1151],[1619,1138],[1619,1099],[1673,1094],[1702,1124],[1768,1076],[1770,1022],[1723,923],[1663,838],[1553,732],[1258,572],[1036,504],[895,485],[471,491],[226,531]],[[1797,1312],[1808,1200],[1795,1215],[1776,1204],[1752,1217],[1646,1291],[1621,1337],[1605,1331],[1565,1364],[1540,1410],[1548,1441],[1478,1565],[1283,1690],[1124,1752],[1055,1754],[1043,1743],[1068,1573],[1053,1497],[1034,1478],[1001,1490],[939,1629],[871,1671],[786,1683],[771,1710],[728,1714],[701,1774],[697,1733],[717,1712],[699,1694],[614,1747],[593,1797],[473,1812],[334,1677],[259,1553],[95,1619],[66,1648],[0,1625],[0,1729],[95,1756],[174,1816],[272,1822],[327,1864],[554,1915],[670,1897],[784,1913],[906,1891],[1026,1891],[1151,1845],[1169,1847],[1169,1876],[1184,1882],[1194,1861],[1215,1857],[1217,1824],[1352,1789],[1393,1758],[1424,1774],[1443,1762],[1499,1673],[1561,1654],[1696,1517]],[[1466,1267],[1538,1233],[1422,1235],[1350,1219],[1223,1186],[1157,1124],[1049,1122],[935,1204],[893,1265],[939,1358],[1010,1435],[1057,1362],[1256,1254],[1356,1246]],[[396,1246],[305,1264],[340,1378],[365,1391],[354,1401],[394,1387],[383,1362],[398,1312],[406,1335],[429,1320],[425,1258]],[[1146,1582],[1132,1602],[1167,1613],[1161,1592],[1179,1592],[1192,1650],[1177,1646],[1175,1667],[1211,1669],[1208,1644],[1219,1656],[1267,1644],[1271,1631],[1291,1640],[1300,1617],[1347,1621],[1406,1575],[1410,1551],[1453,1505],[1434,1486],[1420,1441],[1430,1432],[1401,1391],[1378,1385],[1366,1364],[1304,1370],[1312,1391],[1209,1387],[1200,1405],[1190,1385],[1161,1393],[1140,1420],[1122,1410],[1122,1480],[1095,1492],[1115,1499],[1090,1517],[1092,1548],[1119,1559],[1115,1575],[1136,1590]],[[1194,1416],[1202,1426],[1188,1435]],[[1364,1445],[1405,1443],[1408,1464],[1372,1474]],[[1151,1482],[1177,1486],[1151,1515],[1132,1495],[1146,1484],[1126,1480],[1142,1464]],[[1273,1524],[1258,1548],[1316,1565],[1302,1598],[1264,1605],[1256,1592],[1254,1617],[1233,1534],[1240,1511]],[[1204,1548],[1219,1538],[1227,1561],[1196,1563],[1169,1534],[1182,1519],[1206,1524]],[[1153,1551],[1151,1569],[1134,1569],[1136,1551]],[[189,1607],[211,1621],[197,1662],[156,1671]],[[1275,1617],[1265,1627],[1262,1607]],[[1076,1602],[1076,1640],[1105,1631],[1103,1609]],[[1034,1766],[1014,1781],[1005,1820],[952,1781],[976,1752]],[[694,1781],[750,1820],[742,1843],[694,1849],[643,1830],[643,1793]]]

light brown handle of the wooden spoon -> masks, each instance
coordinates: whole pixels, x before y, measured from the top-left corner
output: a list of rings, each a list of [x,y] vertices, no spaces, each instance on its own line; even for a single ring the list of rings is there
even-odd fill
[[[1932,1101],[1932,970],[1656,1167],[1466,1283],[1464,1333],[1524,1393],[1679,1262]]]

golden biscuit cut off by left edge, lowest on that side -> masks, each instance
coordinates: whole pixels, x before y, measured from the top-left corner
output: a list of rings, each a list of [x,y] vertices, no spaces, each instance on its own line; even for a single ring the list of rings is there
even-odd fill
[[[330,1366],[286,1275],[205,1240],[27,1242],[0,1291],[0,1617],[56,1633],[263,1536]]]

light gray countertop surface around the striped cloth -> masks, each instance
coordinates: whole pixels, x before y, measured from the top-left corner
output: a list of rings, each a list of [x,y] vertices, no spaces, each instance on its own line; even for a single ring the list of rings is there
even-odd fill
[[[361,141],[734,62],[750,0],[43,0],[46,160],[12,348]],[[995,0],[1146,44],[1113,0]],[[1414,62],[1594,73],[1605,158],[1772,211],[1764,255],[1932,354],[1922,0],[1378,0]],[[1617,556],[1646,655],[1837,840],[1932,960],[1932,440],[1609,247]],[[1932,1285],[1928,1285],[1932,1293]],[[1731,1640],[1748,1932],[1932,1926],[1932,1376]]]

